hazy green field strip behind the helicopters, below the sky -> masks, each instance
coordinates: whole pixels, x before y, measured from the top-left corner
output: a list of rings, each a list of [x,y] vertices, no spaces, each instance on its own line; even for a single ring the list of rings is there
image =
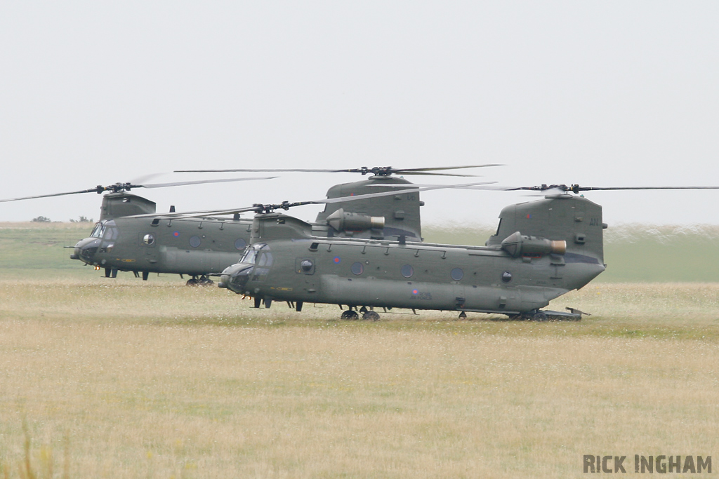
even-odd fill
[[[92,226],[0,223],[0,276],[97,274],[64,248],[88,236]],[[446,223],[424,225],[422,233],[430,243],[483,246],[494,231],[494,225]],[[612,225],[605,230],[605,262],[597,282],[719,282],[719,225]]]

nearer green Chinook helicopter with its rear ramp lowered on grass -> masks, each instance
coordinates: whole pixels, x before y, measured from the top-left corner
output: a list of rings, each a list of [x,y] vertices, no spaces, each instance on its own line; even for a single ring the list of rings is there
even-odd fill
[[[293,204],[255,205],[245,209],[258,213],[251,245],[222,272],[219,287],[254,298],[255,307],[282,301],[301,311],[305,302],[339,304],[347,307],[341,317],[348,320],[360,313],[377,320],[377,307],[451,310],[461,318],[481,312],[580,320],[585,313],[571,308],[541,310],[606,268],[602,208],[580,192],[719,187],[489,188],[530,190],[544,198],[504,208],[483,247],[318,237],[308,223],[277,213]]]

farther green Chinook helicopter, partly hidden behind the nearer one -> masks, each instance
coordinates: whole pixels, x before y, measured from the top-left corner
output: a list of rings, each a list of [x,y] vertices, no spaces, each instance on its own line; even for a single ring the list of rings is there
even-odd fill
[[[438,170],[466,169],[494,165],[462,167],[393,169],[390,167],[299,170],[310,172],[359,172],[372,174],[369,180],[336,185],[327,192],[333,202],[312,224],[312,234],[329,237],[360,237],[374,239],[410,238],[421,241],[420,206],[417,192],[399,190],[413,185],[401,175],[472,176],[438,173]],[[241,171],[298,171],[298,170],[241,170]],[[249,244],[251,219],[176,218],[170,213],[155,213],[155,203],[129,193],[134,188],[157,188],[201,183],[266,180],[270,178],[234,178],[159,184],[117,183],[88,190],[50,195],[13,198],[14,201],[37,197],[74,195],[96,192],[104,195],[101,216],[91,235],[74,247],[71,259],[104,269],[105,276],[116,277],[118,271],[132,271],[146,280],[150,273],[191,276],[188,284],[213,284],[209,275],[217,275],[237,259]],[[385,195],[368,194],[385,192]],[[352,198],[349,198],[352,197]],[[343,200],[344,198],[344,200]],[[169,215],[169,216],[168,216]]]

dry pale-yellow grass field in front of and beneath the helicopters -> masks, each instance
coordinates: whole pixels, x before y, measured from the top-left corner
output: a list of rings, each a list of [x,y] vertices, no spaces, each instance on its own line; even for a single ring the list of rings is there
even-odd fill
[[[216,288],[0,282],[0,464],[19,476],[23,418],[39,477],[66,450],[70,477],[112,478],[554,478],[585,454],[711,455],[718,298],[603,284],[552,304],[582,322],[368,323]]]

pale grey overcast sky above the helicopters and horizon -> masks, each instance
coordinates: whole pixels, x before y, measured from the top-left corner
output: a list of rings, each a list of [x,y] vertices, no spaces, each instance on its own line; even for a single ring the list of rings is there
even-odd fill
[[[716,1],[4,1],[0,198],[232,167],[503,163],[480,180],[719,185],[718,23]],[[198,210],[361,179],[137,192]],[[586,196],[610,225],[719,224],[719,191]],[[493,224],[531,198],[423,200],[427,223]],[[98,218],[100,201],[0,203],[0,220]]]

